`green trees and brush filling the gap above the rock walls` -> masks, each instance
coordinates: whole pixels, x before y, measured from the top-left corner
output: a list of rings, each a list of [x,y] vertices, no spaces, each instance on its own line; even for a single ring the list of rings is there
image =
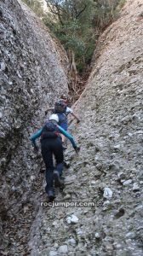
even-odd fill
[[[100,32],[117,19],[125,0],[45,0],[49,10],[46,13],[39,1],[23,0],[66,49],[69,77],[78,84],[77,77],[83,78],[88,72]]]

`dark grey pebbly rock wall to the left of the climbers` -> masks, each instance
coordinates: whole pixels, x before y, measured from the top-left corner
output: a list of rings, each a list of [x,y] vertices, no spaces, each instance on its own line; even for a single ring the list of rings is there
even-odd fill
[[[25,5],[0,1],[0,37],[0,216],[5,221],[30,200],[39,175],[29,137],[43,124],[44,110],[68,89],[64,51]]]

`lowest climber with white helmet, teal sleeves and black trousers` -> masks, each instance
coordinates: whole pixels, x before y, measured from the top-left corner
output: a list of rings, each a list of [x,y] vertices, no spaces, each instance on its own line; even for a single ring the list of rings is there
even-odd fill
[[[41,149],[43,155],[43,161],[46,166],[46,193],[49,196],[49,201],[54,200],[54,186],[60,187],[62,185],[61,175],[63,171],[63,147],[61,142],[60,133],[66,136],[72,143],[72,147],[76,152],[79,151],[77,143],[74,141],[74,138],[71,134],[65,131],[60,125],[57,125],[59,122],[59,117],[57,114],[52,114],[49,117],[49,121],[43,126],[42,129],[38,130],[31,136],[31,142],[34,148],[37,149],[36,140],[38,137],[41,137]],[[54,169],[53,154],[56,160],[56,166]]]

